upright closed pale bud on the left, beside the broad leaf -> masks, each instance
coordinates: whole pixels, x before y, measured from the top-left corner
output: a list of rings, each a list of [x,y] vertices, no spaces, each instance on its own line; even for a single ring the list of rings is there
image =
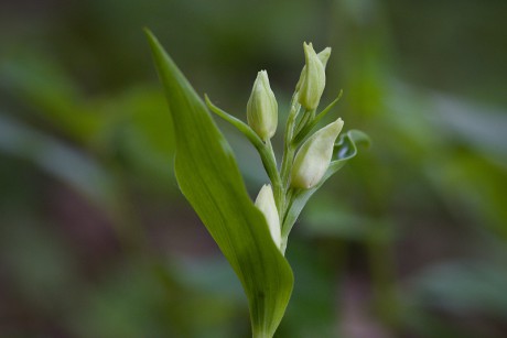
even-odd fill
[[[278,103],[269,86],[268,73],[257,74],[250,98],[247,103],[247,120],[254,131],[267,141],[274,135],[278,124]]]

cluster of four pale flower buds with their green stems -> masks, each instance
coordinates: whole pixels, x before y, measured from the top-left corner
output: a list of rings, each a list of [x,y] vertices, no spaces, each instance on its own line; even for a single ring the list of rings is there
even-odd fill
[[[257,74],[248,99],[247,121],[249,127],[238,122],[237,119],[230,118],[219,109],[214,109],[215,112],[235,123],[256,144],[261,157],[263,156],[265,167],[270,168],[268,170],[268,175],[273,183],[274,194],[271,185],[263,185],[255,205],[266,217],[273,242],[282,252],[284,250],[284,248],[281,248],[282,241],[287,239],[281,238],[280,222],[284,219],[282,214],[287,211],[287,206],[290,203],[288,199],[292,198],[289,190],[311,189],[321,183],[330,167],[335,141],[343,128],[342,119],[337,119],[316,131],[299,148],[294,157],[294,151],[300,142],[309,135],[315,124],[328,111],[328,108],[337,101],[336,99],[323,112],[315,116],[315,110],[325,88],[325,67],[331,55],[331,48],[326,47],[319,54],[315,53],[311,43],[304,43],[303,48],[305,65],[295,86],[288,129],[285,130],[287,144],[281,167],[282,175],[278,172],[270,143],[270,139],[274,135],[278,126],[278,103],[269,85],[266,70]],[[295,128],[294,123],[300,109],[303,110],[303,113],[300,116]],[[266,152],[270,153],[270,155],[267,156]]]

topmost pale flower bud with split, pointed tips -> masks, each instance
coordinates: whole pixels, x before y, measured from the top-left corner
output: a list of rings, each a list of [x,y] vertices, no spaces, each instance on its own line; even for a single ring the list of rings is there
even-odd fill
[[[331,55],[331,48],[322,51],[322,61],[315,54],[313,45],[304,43],[304,58],[305,66],[301,76],[301,83],[299,84],[299,96],[298,101],[304,108],[314,110],[317,108],[321,101],[322,92],[325,87],[325,66],[323,61],[327,63],[327,58]]]

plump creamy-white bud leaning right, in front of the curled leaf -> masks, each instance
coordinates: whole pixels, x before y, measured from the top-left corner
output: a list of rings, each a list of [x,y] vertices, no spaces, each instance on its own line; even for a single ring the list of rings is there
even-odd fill
[[[308,139],[295,155],[291,186],[310,189],[321,182],[333,156],[336,138],[343,128],[342,119],[322,128]]]

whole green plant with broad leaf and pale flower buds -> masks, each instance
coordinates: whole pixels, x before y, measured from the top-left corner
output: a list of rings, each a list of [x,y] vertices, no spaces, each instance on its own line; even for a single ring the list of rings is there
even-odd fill
[[[292,226],[315,190],[356,155],[355,142],[368,139],[359,131],[349,131],[335,143],[343,124],[338,119],[310,137],[294,161],[300,143],[339,98],[315,115],[324,89],[321,81],[325,81],[323,72],[328,48],[319,57],[311,45],[305,45],[306,70],[300,89],[306,92],[301,97],[308,97],[301,102],[304,112],[298,119],[301,97],[298,90],[293,95],[279,168],[270,143],[277,129],[277,102],[267,73],[260,72],[254,85],[247,124],[215,107],[207,97],[203,102],[148,30],[147,35],[169,110],[177,126],[173,130],[176,139],[174,166],[180,189],[242,284],[252,336],[272,337],[292,293],[293,275],[283,257]],[[315,80],[319,84],[312,83]],[[259,152],[271,185],[262,186],[256,204],[248,196],[230,146],[208,109],[235,126]]]

